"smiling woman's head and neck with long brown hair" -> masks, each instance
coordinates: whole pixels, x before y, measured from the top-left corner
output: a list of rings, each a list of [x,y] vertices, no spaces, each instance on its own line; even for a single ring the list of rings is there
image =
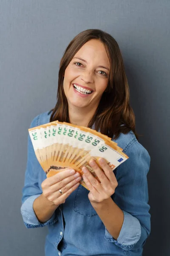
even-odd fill
[[[85,94],[75,94],[73,84],[79,86],[78,90],[82,87],[93,93],[82,101]],[[74,104],[82,106],[81,109]],[[77,116],[74,121],[71,111],[74,119],[75,113]],[[122,55],[116,40],[108,33],[87,29],[66,48],[59,68],[57,104],[50,121],[57,119],[90,128],[95,123],[96,130],[115,139],[121,132],[129,131],[137,137]]]

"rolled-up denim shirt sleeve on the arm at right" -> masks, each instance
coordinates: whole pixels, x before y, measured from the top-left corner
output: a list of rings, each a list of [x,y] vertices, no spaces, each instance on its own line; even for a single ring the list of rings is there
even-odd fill
[[[122,209],[124,221],[118,239],[114,239],[105,228],[105,239],[124,250],[142,247],[150,234],[150,206],[148,205],[147,173],[150,156],[136,140],[125,149],[128,155],[116,170],[118,186],[112,197]]]

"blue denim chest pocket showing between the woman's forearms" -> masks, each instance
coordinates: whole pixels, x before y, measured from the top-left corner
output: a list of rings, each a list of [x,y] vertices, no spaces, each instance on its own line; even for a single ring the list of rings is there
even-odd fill
[[[96,216],[97,213],[95,209],[92,207],[90,200],[88,199],[89,191],[85,189],[82,185],[79,185],[74,199],[74,211],[86,216],[92,217]]]

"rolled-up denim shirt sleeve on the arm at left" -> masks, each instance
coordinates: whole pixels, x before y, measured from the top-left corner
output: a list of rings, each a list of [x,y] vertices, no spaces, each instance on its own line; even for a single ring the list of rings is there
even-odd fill
[[[40,116],[37,116],[33,119],[30,128],[39,125],[39,118]],[[38,172],[40,169],[42,169],[42,167],[37,160],[31,139],[28,135],[27,166],[21,206],[21,215],[27,228],[44,227],[54,224],[57,221],[56,212],[54,212],[48,221],[41,223],[38,221],[33,209],[34,200],[42,194],[42,189],[38,185]]]

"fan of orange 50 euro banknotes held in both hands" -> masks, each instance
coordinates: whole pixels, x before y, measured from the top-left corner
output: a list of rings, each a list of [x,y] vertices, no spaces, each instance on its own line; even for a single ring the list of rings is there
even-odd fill
[[[82,167],[86,166],[98,179],[89,164],[91,159],[99,165],[99,157],[105,158],[112,170],[128,159],[111,138],[84,126],[54,121],[28,131],[37,160],[47,177],[68,167],[82,175]],[[80,183],[88,189],[83,179]]]

